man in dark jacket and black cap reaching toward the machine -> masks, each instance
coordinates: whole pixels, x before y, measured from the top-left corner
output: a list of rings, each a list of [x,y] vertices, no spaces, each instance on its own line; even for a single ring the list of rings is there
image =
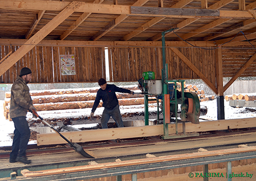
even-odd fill
[[[102,99],[102,106],[105,109],[100,119],[101,127],[108,128],[107,123],[110,119],[110,116],[112,116],[118,127],[124,127],[121,113],[119,110],[118,99],[115,95],[115,92],[133,94],[133,91],[117,87],[114,84],[107,84],[105,79],[100,79],[98,81],[98,84],[100,85],[100,89],[97,91],[97,96],[92,107],[92,112],[90,114],[91,118],[94,116],[94,112],[100,103],[100,99]]]

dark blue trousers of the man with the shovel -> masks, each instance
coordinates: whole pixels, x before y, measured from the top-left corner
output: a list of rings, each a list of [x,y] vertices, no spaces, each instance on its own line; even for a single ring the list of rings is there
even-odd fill
[[[14,122],[14,140],[10,159],[15,159],[17,156],[26,156],[28,141],[30,138],[30,129],[25,116],[12,118]]]

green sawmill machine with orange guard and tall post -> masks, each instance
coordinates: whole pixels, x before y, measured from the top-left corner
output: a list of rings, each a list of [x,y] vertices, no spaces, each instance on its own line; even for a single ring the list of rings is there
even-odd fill
[[[148,71],[143,72],[143,78],[140,79],[139,86],[144,94],[144,111],[145,111],[145,125],[148,125],[148,102],[149,96],[154,96],[157,102],[157,119],[159,120],[159,100],[161,101],[161,111],[163,113],[163,139],[174,139],[184,137],[199,136],[199,133],[186,134],[185,122],[190,121],[192,124],[199,124],[200,104],[196,93],[184,92],[184,80],[169,80],[168,79],[168,65],[165,59],[165,34],[173,29],[162,32],[162,57],[163,69],[162,79],[155,80],[155,73]],[[178,106],[180,105],[180,118],[178,118]],[[171,118],[172,117],[172,118]],[[171,119],[175,120],[176,134],[169,135],[169,125]],[[181,133],[178,132],[178,120],[182,122]],[[181,129],[181,128],[180,128]]]

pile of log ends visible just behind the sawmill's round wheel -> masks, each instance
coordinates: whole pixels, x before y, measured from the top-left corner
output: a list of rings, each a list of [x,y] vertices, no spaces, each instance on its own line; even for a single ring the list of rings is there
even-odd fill
[[[179,91],[181,91],[181,83],[176,83],[177,85],[180,85],[180,87],[178,88]],[[198,95],[198,98],[200,100],[200,102],[203,102],[203,101],[208,101],[208,100],[213,100],[215,97],[214,96],[209,96],[209,97],[206,97],[204,95],[204,90],[199,90],[199,88],[196,86],[196,85],[186,85],[184,83],[184,92],[194,92]]]

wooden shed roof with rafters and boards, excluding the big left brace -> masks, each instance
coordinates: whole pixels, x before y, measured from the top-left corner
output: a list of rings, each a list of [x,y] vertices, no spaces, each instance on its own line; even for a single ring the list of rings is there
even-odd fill
[[[0,0],[0,38],[29,39],[73,0]],[[45,40],[216,41],[255,33],[255,0],[76,0]],[[115,4],[114,4],[115,3]],[[241,34],[242,35],[242,34]],[[255,38],[255,37],[253,37]],[[225,42],[225,41],[220,41]]]

